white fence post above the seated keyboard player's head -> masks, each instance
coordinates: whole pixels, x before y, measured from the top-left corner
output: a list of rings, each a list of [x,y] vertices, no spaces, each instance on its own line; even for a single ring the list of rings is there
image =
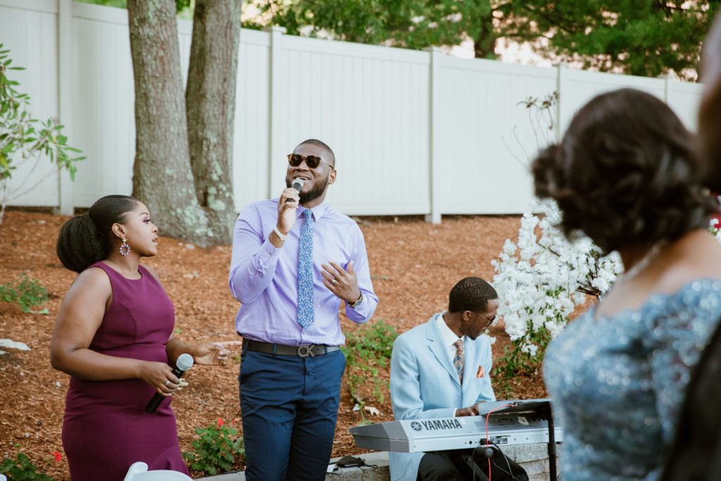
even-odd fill
[[[425,221],[441,224],[441,142],[435,136],[441,135],[441,56],[440,47],[427,47],[423,50],[430,55],[430,81],[428,82],[428,179],[430,181],[430,213]]]

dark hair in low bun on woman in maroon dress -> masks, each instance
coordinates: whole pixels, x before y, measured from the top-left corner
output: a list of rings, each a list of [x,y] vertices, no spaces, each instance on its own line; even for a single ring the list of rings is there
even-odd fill
[[[56,247],[63,265],[80,273],[107,259],[112,248],[112,224],[123,224],[125,214],[136,208],[136,203],[138,200],[130,195],[106,195],[96,200],[88,213],[63,224]]]

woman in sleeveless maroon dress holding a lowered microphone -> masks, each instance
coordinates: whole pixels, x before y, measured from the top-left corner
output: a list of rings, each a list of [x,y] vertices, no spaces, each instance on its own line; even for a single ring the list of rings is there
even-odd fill
[[[188,474],[170,394],[175,360],[224,364],[223,345],[190,346],[173,335],[174,308],[157,275],[140,265],[156,255],[148,208],[126,195],[97,200],[63,225],[58,257],[78,277],[63,300],[50,344],[55,369],[70,374],[63,448],[73,481],[123,480],[133,462]],[[148,414],[156,392],[167,396]]]

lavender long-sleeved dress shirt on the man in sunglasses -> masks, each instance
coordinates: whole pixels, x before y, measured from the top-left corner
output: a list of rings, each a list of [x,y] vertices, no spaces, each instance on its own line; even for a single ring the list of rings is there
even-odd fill
[[[242,305],[235,328],[246,339],[285,345],[342,345],[341,299],[323,283],[321,264],[337,262],[353,269],[363,301],[355,309],[345,306],[348,319],[368,321],[378,305],[368,269],[363,233],[348,216],[324,203],[313,212],[313,288],[315,322],[304,329],[298,324],[298,240],[306,208],[298,207],[296,224],[283,247],[276,248],[267,237],[278,221],[278,198],[252,203],[240,213],[233,234],[229,285]]]

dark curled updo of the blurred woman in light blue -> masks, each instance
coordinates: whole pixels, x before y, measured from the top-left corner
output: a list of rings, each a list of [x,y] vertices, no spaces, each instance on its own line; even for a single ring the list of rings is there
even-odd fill
[[[560,144],[534,160],[536,196],[552,198],[571,238],[583,231],[604,252],[677,239],[709,224],[692,138],[653,95],[598,95],[573,118]]]

